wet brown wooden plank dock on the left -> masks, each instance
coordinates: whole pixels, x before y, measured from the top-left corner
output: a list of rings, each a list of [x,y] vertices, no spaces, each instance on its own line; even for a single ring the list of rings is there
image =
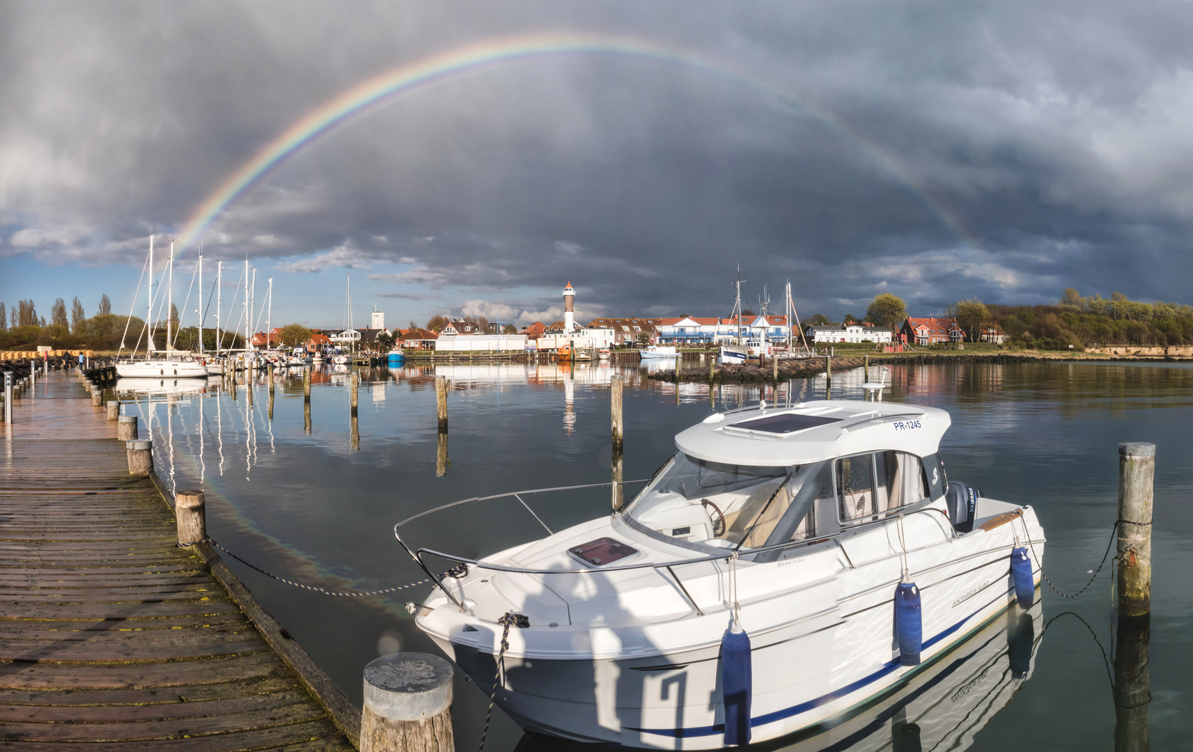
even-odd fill
[[[177,547],[117,424],[73,375],[31,392],[0,424],[0,747],[351,751],[359,708],[210,548]]]

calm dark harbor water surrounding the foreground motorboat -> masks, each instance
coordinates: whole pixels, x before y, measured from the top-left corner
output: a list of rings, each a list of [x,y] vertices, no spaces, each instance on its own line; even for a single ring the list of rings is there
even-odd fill
[[[439,366],[452,392],[450,467],[437,476],[435,372],[422,366],[361,370],[358,440],[348,415],[348,374],[330,366],[315,375],[309,433],[298,370],[277,376],[272,420],[264,374],[252,387],[241,384],[235,399],[215,381],[203,393],[122,396],[137,401],[125,413],[142,415],[149,426],[156,468],[167,482],[206,491],[215,540],[290,579],[373,590],[422,577],[392,535],[394,523],[410,514],[475,495],[608,481],[608,383],[616,374],[628,380],[628,480],[649,476],[674,451],[672,437],[712,409],[824,394],[823,377],[780,384],[777,393],[723,386],[710,394],[705,384],[681,384],[676,393],[674,384],[649,381],[638,369],[601,364]],[[1087,571],[1106,550],[1115,518],[1119,442],[1157,444],[1151,741],[1157,750],[1193,747],[1193,583],[1187,575],[1193,571],[1193,506],[1187,504],[1193,368],[963,363],[894,366],[891,380],[888,401],[951,413],[953,426],[941,446],[950,479],[1037,507],[1049,538],[1045,572],[1067,592],[1088,580]],[[837,374],[833,396],[860,399],[860,371]],[[606,513],[608,504],[607,488],[532,503],[555,530]],[[420,544],[468,556],[539,535],[517,501],[469,505],[408,530]],[[402,608],[426,596],[426,586],[389,597],[334,598],[229,565],[358,703],[360,671],[377,655],[435,652]],[[1107,566],[1073,600],[1044,587],[1043,612],[1030,630],[1034,662],[1026,680],[1000,668],[1007,636],[979,635],[958,651],[972,655],[968,661],[913,684],[907,702],[919,704],[896,702],[888,716],[915,720],[915,745],[880,723],[854,722],[842,727],[848,734],[804,740],[797,748],[1113,748],[1108,661],[1115,624],[1108,574]],[[978,697],[984,699],[975,702]],[[487,704],[476,686],[457,677],[458,748],[475,747]],[[500,710],[494,716],[490,750],[560,746],[524,736]]]

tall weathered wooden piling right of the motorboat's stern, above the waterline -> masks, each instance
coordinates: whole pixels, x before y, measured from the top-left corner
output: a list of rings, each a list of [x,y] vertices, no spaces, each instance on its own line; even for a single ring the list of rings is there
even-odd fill
[[[1155,444],[1119,444],[1120,616],[1146,616],[1151,611],[1151,504],[1155,475]]]

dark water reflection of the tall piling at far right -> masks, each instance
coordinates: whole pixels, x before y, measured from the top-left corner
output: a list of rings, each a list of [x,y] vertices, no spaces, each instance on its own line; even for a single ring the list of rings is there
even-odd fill
[[[1151,748],[1149,621],[1146,616],[1119,620],[1114,646],[1114,752],[1148,752]]]

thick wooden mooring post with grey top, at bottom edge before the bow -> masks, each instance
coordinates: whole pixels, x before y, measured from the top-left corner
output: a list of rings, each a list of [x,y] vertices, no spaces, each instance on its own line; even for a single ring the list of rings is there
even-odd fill
[[[427,653],[395,653],[370,662],[364,673],[360,752],[456,748],[451,664]]]

